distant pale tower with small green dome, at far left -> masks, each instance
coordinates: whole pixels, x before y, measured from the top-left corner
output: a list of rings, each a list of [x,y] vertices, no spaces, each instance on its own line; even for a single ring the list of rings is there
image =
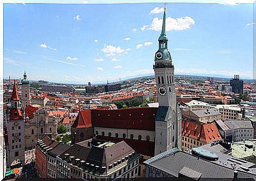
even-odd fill
[[[30,82],[27,80],[26,72],[24,72],[23,79],[21,80],[22,86],[21,86],[21,103],[22,103],[22,109],[25,110],[25,108],[30,105]]]

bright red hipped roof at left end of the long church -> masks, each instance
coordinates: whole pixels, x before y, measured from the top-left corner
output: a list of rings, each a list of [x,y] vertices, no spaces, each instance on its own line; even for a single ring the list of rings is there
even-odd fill
[[[91,109],[81,110],[72,125],[75,128],[87,128],[91,126]]]

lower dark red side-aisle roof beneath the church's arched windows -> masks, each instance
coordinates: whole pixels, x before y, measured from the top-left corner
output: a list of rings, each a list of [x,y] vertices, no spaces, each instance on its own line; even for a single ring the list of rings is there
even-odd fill
[[[97,139],[111,141],[111,142],[121,142],[124,140],[135,152],[147,155],[147,156],[154,156],[155,154],[155,142],[148,142],[145,140],[137,140],[137,139],[124,139],[124,138],[116,138],[116,137],[108,137],[98,135]]]

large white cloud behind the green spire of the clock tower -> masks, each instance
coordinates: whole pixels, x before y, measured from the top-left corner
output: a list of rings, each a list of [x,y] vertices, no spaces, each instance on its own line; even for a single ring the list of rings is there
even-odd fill
[[[162,24],[163,24],[163,19],[159,19],[158,17],[155,17],[149,29],[160,31],[162,30]],[[172,17],[168,17],[166,18],[165,29],[166,31],[184,30],[184,29],[190,28],[190,26],[194,24],[195,24],[194,19],[189,16],[180,17],[176,19]]]

